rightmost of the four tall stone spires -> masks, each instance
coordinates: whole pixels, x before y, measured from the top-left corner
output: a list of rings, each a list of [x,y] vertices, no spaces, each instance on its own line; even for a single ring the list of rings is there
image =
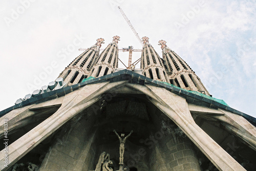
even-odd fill
[[[166,81],[182,89],[209,95],[200,78],[181,57],[166,46],[166,41],[160,40],[158,42],[158,45],[161,45],[163,59],[169,74],[169,79]]]

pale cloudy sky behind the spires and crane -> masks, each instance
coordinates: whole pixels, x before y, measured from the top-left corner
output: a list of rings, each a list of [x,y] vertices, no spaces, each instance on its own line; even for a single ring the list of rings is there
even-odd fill
[[[97,38],[119,49],[140,37],[162,56],[163,39],[200,77],[209,93],[256,117],[256,3],[244,1],[39,1],[0,2],[0,111],[54,81]],[[133,61],[140,58],[133,53]],[[125,64],[127,52],[119,52]],[[124,66],[119,62],[119,68]],[[139,68],[139,65],[136,66]]]

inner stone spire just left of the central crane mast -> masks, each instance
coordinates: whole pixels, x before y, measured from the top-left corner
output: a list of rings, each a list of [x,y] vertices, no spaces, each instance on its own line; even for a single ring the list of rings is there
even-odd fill
[[[92,77],[101,77],[115,72],[118,67],[118,40],[120,37],[114,36],[113,41],[99,55],[90,73]]]

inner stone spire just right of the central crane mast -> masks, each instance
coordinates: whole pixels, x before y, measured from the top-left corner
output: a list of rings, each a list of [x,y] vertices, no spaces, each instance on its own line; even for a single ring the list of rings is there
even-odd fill
[[[143,48],[141,53],[142,74],[148,78],[166,82],[166,73],[161,58],[148,42],[148,37],[142,37]]]

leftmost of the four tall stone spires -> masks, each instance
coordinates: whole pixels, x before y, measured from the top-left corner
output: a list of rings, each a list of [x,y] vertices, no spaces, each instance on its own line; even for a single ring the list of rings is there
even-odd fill
[[[84,51],[81,55],[75,58],[70,65],[62,71],[58,78],[63,78],[67,86],[77,84],[84,78],[87,78],[95,59],[99,54],[99,48],[104,44],[103,38],[98,38],[95,45]]]

